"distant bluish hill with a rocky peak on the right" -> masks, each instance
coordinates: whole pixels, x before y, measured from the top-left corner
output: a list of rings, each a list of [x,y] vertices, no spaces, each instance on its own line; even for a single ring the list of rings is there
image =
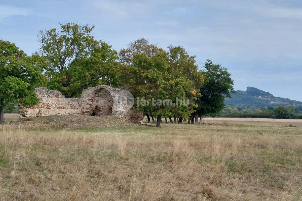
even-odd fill
[[[248,87],[246,91],[238,90],[237,93],[232,94],[232,99],[226,98],[225,105],[232,105],[235,107],[255,106],[256,108],[278,106],[278,105],[302,105],[302,102],[290,100],[286,98],[273,96],[271,93],[259,90],[254,87]]]

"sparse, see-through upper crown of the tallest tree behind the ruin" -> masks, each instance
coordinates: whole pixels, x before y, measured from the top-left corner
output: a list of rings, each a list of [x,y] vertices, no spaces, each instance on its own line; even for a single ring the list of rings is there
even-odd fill
[[[56,28],[40,30],[38,41],[41,43],[39,53],[46,56],[49,66],[46,71],[61,73],[70,68],[74,61],[86,58],[93,46],[98,45],[91,32],[94,26],[79,26],[74,23],[60,24]]]

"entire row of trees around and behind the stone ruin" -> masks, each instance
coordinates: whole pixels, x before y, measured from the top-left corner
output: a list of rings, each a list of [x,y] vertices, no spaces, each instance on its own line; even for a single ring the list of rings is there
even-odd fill
[[[189,105],[143,105],[136,110],[147,117],[178,118],[198,123],[198,117],[223,109],[225,97],[235,93],[226,68],[207,60],[196,64],[195,56],[181,46],[167,51],[142,38],[119,52],[91,34],[94,26],[67,23],[60,30],[40,31],[40,49],[27,56],[13,43],[0,40],[0,122],[3,108],[19,101],[38,102],[33,89],[46,86],[66,97],[79,97],[82,90],[100,84],[124,86],[134,97],[189,99]],[[136,100],[136,99],[135,99]],[[136,105],[136,104],[135,104]],[[201,120],[200,120],[201,123]]]

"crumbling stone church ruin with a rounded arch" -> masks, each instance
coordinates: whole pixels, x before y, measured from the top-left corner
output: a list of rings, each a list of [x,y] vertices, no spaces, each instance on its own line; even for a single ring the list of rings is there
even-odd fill
[[[49,115],[91,115],[113,114],[124,121],[139,122],[143,119],[141,112],[133,110],[134,98],[123,88],[99,85],[82,91],[79,98],[66,98],[59,91],[45,87],[34,91],[39,98],[38,105],[23,106],[19,104],[19,118]]]

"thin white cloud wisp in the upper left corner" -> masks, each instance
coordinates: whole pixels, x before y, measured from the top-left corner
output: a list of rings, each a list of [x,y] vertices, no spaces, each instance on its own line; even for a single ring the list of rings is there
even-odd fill
[[[16,15],[28,16],[32,15],[32,11],[27,8],[19,8],[8,5],[0,5],[0,20]]]

